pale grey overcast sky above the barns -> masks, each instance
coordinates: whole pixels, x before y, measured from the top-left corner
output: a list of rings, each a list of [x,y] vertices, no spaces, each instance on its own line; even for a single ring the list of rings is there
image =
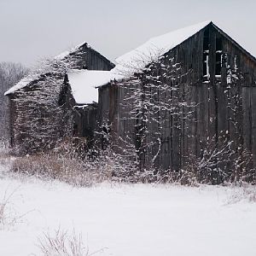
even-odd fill
[[[204,20],[256,56],[255,10],[256,0],[0,0],[0,61],[29,67],[84,41],[113,61]]]

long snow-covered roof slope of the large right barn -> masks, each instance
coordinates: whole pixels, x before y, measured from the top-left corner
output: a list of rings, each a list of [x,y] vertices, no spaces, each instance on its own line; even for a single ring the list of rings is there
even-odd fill
[[[164,55],[178,44],[182,44],[183,41],[192,37],[210,23],[211,21],[207,20],[151,38],[137,49],[133,49],[117,58],[115,60],[117,65],[113,68],[112,72],[122,74],[125,77],[129,77],[133,73],[139,73],[150,62],[158,60],[161,55]]]

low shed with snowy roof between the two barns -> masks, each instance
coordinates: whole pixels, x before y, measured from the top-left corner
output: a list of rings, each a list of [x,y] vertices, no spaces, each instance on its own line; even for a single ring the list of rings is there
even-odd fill
[[[73,115],[73,136],[85,137],[90,147],[94,133],[97,131],[98,89],[108,84],[111,79],[109,71],[72,70],[67,73],[61,91],[60,104],[65,111]]]

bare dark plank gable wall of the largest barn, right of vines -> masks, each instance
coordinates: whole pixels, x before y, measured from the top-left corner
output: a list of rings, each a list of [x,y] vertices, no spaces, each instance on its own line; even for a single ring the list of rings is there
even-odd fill
[[[171,169],[175,170],[190,165],[191,155],[200,158],[205,148],[216,147],[221,150],[224,143],[230,141],[231,149],[236,151],[236,154],[233,154],[231,159],[226,155],[227,162],[222,161],[215,167],[224,170],[224,175],[231,175],[230,161],[241,156],[243,149],[253,154],[253,167],[256,167],[256,133],[253,122],[253,105],[256,103],[256,61],[215,27],[209,26],[209,29],[209,79],[206,80],[202,76],[204,30],[172,50],[171,54],[177,58],[177,62],[182,63],[184,72],[189,68],[193,70],[192,75],[186,77],[187,85],[184,85],[184,90],[188,92],[185,96],[186,102],[195,102],[196,107],[192,110],[192,118],[184,120],[183,129],[177,134],[180,141],[173,141],[177,136],[172,136],[167,143],[172,143],[172,152],[178,152],[178,148],[180,150],[180,154],[176,153],[176,157],[172,158],[174,162]],[[217,38],[221,38],[222,41],[221,77],[215,75]],[[241,79],[233,80],[229,84],[227,74],[230,70],[234,75],[241,76]],[[173,132],[170,130],[167,134]],[[241,147],[242,149],[237,149]],[[168,167],[166,159],[168,158],[162,157],[161,160],[164,168]],[[216,183],[221,182],[219,178],[222,177],[216,177]]]

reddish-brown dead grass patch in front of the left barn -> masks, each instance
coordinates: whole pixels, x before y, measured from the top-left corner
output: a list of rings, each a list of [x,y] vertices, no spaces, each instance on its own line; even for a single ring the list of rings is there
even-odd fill
[[[108,178],[90,161],[58,154],[37,154],[16,158],[11,170],[43,179],[57,179],[73,186],[87,187]]]

